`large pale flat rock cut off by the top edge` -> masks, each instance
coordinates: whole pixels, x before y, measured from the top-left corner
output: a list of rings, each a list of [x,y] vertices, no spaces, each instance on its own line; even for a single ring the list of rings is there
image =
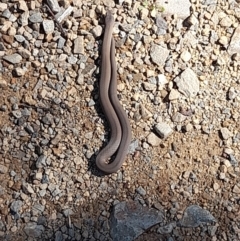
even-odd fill
[[[176,14],[179,18],[185,19],[190,15],[191,3],[189,0],[157,0],[156,5],[161,6],[164,9],[162,12],[163,16]]]

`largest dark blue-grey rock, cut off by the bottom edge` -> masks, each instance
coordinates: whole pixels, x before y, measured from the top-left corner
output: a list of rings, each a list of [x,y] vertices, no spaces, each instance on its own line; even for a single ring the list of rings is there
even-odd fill
[[[163,222],[163,218],[161,211],[143,207],[138,202],[120,202],[111,213],[110,234],[113,241],[132,241],[148,228]]]

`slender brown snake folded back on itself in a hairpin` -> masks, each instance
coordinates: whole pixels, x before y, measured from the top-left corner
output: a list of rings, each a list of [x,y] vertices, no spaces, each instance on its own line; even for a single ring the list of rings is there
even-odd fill
[[[110,126],[110,140],[96,157],[97,167],[105,173],[117,172],[128,153],[131,142],[131,126],[126,112],[117,97],[117,67],[115,41],[112,37],[114,16],[110,11],[105,18],[105,31],[102,43],[101,76],[99,97],[103,112]],[[113,161],[108,160],[114,155]]]

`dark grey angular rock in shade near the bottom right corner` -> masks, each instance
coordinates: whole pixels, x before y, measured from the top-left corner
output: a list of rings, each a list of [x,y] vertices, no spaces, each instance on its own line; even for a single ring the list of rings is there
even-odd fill
[[[209,211],[198,205],[191,205],[185,209],[183,217],[178,221],[177,225],[185,228],[196,228],[200,224],[212,222],[216,222],[216,219]]]

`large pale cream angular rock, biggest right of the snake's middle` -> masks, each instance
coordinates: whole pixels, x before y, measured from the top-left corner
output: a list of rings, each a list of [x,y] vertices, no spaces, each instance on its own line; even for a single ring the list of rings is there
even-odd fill
[[[178,90],[187,97],[195,97],[199,91],[197,75],[190,69],[185,69],[180,76],[174,79]]]

